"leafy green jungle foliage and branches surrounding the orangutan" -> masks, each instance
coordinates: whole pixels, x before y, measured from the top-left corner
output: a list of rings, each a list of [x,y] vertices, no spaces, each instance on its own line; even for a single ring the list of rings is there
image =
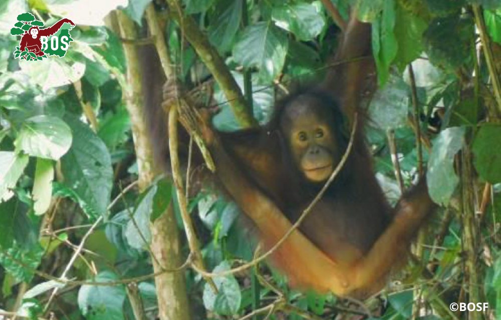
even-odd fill
[[[367,301],[291,289],[263,261],[202,276],[256,241],[152,160],[137,47],[235,130],[322,78],[349,6],[373,25],[375,174],[395,203],[424,163],[440,209]],[[23,12],[77,24],[64,57],[15,56]],[[501,319],[501,0],[0,0],[0,33],[0,318]]]

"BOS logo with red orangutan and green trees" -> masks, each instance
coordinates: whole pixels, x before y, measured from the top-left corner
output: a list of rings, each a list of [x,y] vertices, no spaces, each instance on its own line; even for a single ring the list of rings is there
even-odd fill
[[[30,12],[18,15],[18,22],[11,28],[12,35],[21,35],[14,57],[24,60],[42,60],[49,55],[63,57],[73,41],[70,30],[75,26],[72,20],[64,18],[52,26],[44,27],[44,22]]]

